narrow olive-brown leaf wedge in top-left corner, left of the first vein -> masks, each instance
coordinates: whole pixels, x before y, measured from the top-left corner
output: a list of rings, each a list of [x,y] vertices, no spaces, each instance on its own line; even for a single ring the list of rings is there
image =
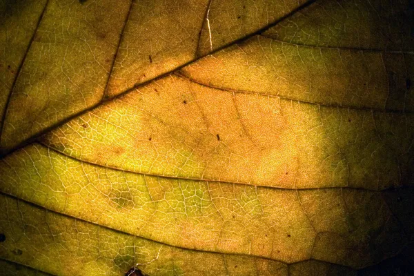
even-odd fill
[[[0,3],[0,126],[3,126],[10,90],[45,5],[46,0],[3,0]]]

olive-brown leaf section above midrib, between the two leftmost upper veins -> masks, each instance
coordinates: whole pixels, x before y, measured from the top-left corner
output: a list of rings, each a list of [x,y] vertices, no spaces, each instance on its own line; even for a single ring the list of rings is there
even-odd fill
[[[41,2],[27,3],[30,6],[26,8],[36,19],[38,3]],[[13,148],[101,100],[129,7],[127,0],[83,4],[79,1],[48,1],[12,91],[2,89],[2,94],[11,95],[1,148]],[[17,13],[14,20],[24,23],[20,16],[25,14]],[[5,28],[5,31],[2,44],[10,40],[6,37],[10,30]],[[26,47],[8,50],[5,55],[21,57]]]

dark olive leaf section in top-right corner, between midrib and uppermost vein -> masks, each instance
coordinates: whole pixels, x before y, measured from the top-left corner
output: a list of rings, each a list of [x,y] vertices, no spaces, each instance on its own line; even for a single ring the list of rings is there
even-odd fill
[[[413,52],[412,17],[411,0],[322,0],[264,35],[299,45]]]

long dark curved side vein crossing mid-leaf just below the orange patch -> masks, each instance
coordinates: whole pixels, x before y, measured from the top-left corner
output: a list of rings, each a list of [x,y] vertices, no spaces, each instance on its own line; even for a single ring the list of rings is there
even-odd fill
[[[214,180],[214,179],[199,179],[199,178],[193,178],[193,177],[176,177],[176,176],[170,176],[170,175],[156,175],[156,174],[148,173],[148,172],[136,172],[136,171],[133,171],[133,170],[125,170],[123,168],[117,168],[117,167],[113,167],[113,166],[97,164],[97,163],[92,162],[92,161],[86,161],[86,160],[83,160],[83,159],[79,159],[77,157],[73,157],[72,155],[68,155],[66,152],[62,152],[61,150],[59,150],[59,149],[57,149],[53,146],[44,144],[42,141],[35,141],[34,144],[38,144],[39,146],[43,146],[44,148],[48,148],[48,149],[52,150],[53,152],[56,152],[59,155],[66,156],[66,157],[68,157],[72,160],[79,161],[83,164],[88,164],[88,165],[97,166],[99,168],[106,168],[106,169],[110,169],[110,170],[117,170],[117,171],[120,171],[120,172],[130,172],[130,173],[135,173],[137,175],[145,175],[145,176],[148,176],[148,177],[159,177],[159,178],[163,178],[163,179],[219,182],[219,183],[223,183],[223,184],[240,185],[240,186],[249,185],[249,186],[257,186],[259,188],[267,188],[267,189],[272,189],[272,190],[297,190],[297,191],[301,191],[301,190],[348,189],[348,190],[365,190],[365,191],[368,190],[368,191],[377,192],[377,193],[380,193],[380,192],[385,191],[385,190],[395,190],[395,188],[393,188],[393,187],[384,188],[383,190],[373,190],[373,189],[370,189],[370,188],[346,187],[346,186],[319,187],[319,188],[288,188],[288,187],[277,187],[277,186],[259,186],[259,185],[255,185],[255,184],[251,184],[251,183],[247,183],[247,182],[234,182],[234,181]]]

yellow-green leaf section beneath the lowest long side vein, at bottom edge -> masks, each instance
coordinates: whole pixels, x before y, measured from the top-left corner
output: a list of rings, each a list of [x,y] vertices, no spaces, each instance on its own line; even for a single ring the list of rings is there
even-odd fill
[[[287,275],[273,260],[174,248],[6,195],[0,201],[0,257],[54,275],[125,275],[133,266],[146,275]]]

